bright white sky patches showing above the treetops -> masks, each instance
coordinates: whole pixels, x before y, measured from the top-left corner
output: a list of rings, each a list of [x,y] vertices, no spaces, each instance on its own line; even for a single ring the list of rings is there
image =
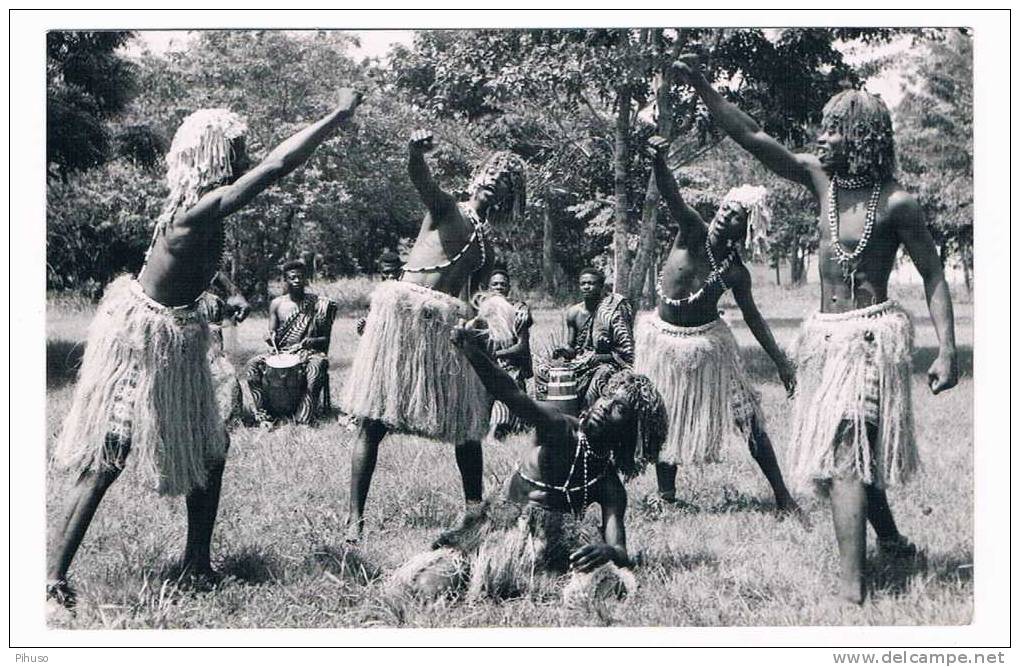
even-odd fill
[[[410,46],[413,31],[347,31],[357,36],[361,46],[352,50],[355,59],[364,57],[382,57],[394,44]],[[129,51],[140,51],[142,45],[155,53],[165,53],[170,50],[183,50],[188,46],[190,36],[186,31],[142,31],[139,33],[139,44],[133,45]],[[861,48],[857,45],[847,45],[842,48],[847,61],[851,64],[860,62],[864,57],[898,55],[909,48],[909,40],[894,40],[888,45]],[[867,81],[865,89],[881,96],[889,108],[896,107],[903,97],[903,74],[897,67],[889,67],[880,76]]]

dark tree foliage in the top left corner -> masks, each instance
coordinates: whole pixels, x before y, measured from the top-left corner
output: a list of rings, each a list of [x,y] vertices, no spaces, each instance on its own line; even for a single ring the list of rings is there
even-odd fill
[[[126,31],[46,35],[46,160],[48,173],[67,175],[111,157],[110,120],[136,91],[136,68],[117,53]]]

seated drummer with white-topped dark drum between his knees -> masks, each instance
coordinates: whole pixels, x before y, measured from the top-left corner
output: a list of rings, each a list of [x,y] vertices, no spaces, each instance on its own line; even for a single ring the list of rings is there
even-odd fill
[[[269,331],[265,340],[270,352],[253,357],[245,366],[245,379],[251,391],[255,419],[260,425],[272,420],[265,410],[263,378],[266,357],[289,352],[305,361],[305,394],[294,415],[301,424],[311,423],[314,419],[329,369],[326,354],[337,304],[325,297],[305,292],[308,269],[299,259],[284,264],[284,281],[287,293],[269,304]]]

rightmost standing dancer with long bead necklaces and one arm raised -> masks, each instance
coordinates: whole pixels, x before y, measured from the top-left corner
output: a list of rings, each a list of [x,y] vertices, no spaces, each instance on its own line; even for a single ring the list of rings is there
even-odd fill
[[[796,346],[795,477],[828,490],[839,550],[839,595],[864,600],[866,523],[880,551],[912,556],[897,528],[886,486],[917,469],[911,405],[913,328],[888,298],[900,247],[924,279],[938,355],[928,387],[938,394],[958,380],[953,303],[934,242],[917,200],[894,176],[892,120],[882,101],[863,91],[834,95],[822,109],[815,154],[795,154],[726,102],[694,56],[676,63],[727,135],[778,175],[815,196],[821,244],[821,312],[809,317]]]

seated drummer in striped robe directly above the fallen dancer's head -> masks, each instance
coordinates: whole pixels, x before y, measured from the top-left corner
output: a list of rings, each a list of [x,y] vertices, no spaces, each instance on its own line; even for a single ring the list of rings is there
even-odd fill
[[[618,294],[603,296],[606,275],[597,268],[581,269],[578,283],[582,300],[564,314],[567,345],[556,348],[551,360],[541,361],[534,377],[542,398],[549,383],[549,368],[568,362],[574,370],[577,394],[590,406],[610,375],[633,365],[633,309]]]

